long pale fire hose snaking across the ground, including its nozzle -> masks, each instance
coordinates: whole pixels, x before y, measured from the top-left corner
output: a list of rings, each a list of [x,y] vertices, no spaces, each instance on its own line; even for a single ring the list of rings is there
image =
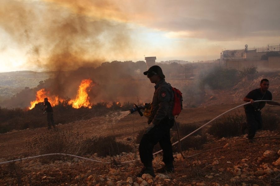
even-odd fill
[[[277,101],[272,101],[272,100],[257,100],[257,101],[254,101],[254,102],[260,102],[260,101],[268,101],[268,102],[278,103]],[[187,137],[189,137],[190,135],[194,134],[194,133],[197,132],[198,130],[202,129],[203,127],[205,127],[205,126],[208,125],[209,123],[213,122],[213,121],[216,120],[217,118],[221,117],[222,115],[224,115],[224,114],[230,112],[231,110],[234,110],[234,109],[236,109],[236,108],[239,108],[239,107],[241,107],[241,106],[244,106],[244,105],[246,105],[246,104],[250,104],[250,102],[247,102],[247,103],[238,105],[238,106],[236,106],[236,107],[234,107],[234,108],[231,108],[230,110],[228,110],[228,111],[226,111],[226,112],[224,112],[224,113],[218,115],[217,117],[215,117],[215,118],[213,118],[212,120],[210,120],[209,122],[205,123],[203,126],[199,127],[199,128],[196,129],[195,131],[193,131],[193,132],[189,133],[188,135],[186,135],[185,137],[181,138],[180,141],[186,139]],[[145,108],[145,107],[144,107],[144,106],[136,107],[136,108],[134,108],[134,112],[135,112],[135,111],[138,111],[138,109],[140,110],[140,109],[143,109],[143,108]],[[138,113],[139,113],[139,112],[138,112]],[[139,113],[139,114],[140,114],[140,113]],[[141,114],[140,114],[140,115],[141,115]],[[172,146],[175,145],[175,144],[177,144],[177,143],[179,143],[179,140],[176,141],[175,143],[173,143]],[[156,155],[156,154],[161,153],[161,152],[162,152],[162,150],[160,150],[160,151],[158,151],[158,152],[156,152],[156,153],[153,153],[153,155]],[[76,155],[72,155],[72,154],[51,153],[51,154],[43,154],[43,155],[38,155],[38,156],[33,156],[33,157],[25,157],[25,158],[20,158],[20,159],[15,159],[15,160],[6,161],[6,162],[0,162],[0,165],[1,165],[1,164],[5,164],[5,163],[10,163],[10,162],[16,162],[16,161],[26,160],[26,159],[32,159],[32,158],[36,158],[36,157],[49,156],[49,155],[73,156],[73,157],[78,157],[78,158],[85,159],[85,160],[90,160],[90,161],[93,161],[93,162],[110,164],[110,162],[101,162],[101,161],[97,161],[97,160],[93,160],[93,159],[89,159],[89,158],[85,158],[85,157],[80,157],[80,156],[76,156]],[[133,162],[133,161],[135,161],[135,160],[128,161],[128,162],[121,162],[121,163],[129,163],[129,162]]]

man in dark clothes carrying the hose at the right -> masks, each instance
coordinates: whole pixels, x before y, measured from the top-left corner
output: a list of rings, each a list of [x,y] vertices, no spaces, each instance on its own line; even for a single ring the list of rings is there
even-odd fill
[[[256,100],[272,100],[272,94],[268,91],[269,81],[268,79],[262,79],[260,82],[260,88],[250,91],[243,101],[251,102],[251,104],[244,105],[245,114],[247,118],[248,136],[250,143],[253,143],[253,138],[258,129],[263,126],[261,109],[264,108],[265,103],[271,105],[280,105],[277,102],[254,102]]]

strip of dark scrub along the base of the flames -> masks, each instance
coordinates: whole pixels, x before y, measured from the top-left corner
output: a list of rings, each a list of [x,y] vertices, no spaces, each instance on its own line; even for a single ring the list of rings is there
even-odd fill
[[[100,102],[92,106],[92,108],[72,108],[71,105],[60,102],[53,107],[55,124],[65,124],[81,119],[88,119],[96,115],[106,115],[112,111],[127,111],[134,107],[133,103],[108,103]],[[108,107],[110,105],[110,107]],[[47,126],[46,115],[43,114],[43,103],[36,104],[31,110],[21,108],[1,108],[0,107],[0,133],[6,133],[12,130],[35,129]]]

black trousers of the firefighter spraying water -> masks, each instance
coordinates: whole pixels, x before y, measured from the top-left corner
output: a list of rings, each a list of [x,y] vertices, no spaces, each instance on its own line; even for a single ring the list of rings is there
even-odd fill
[[[143,135],[139,144],[139,155],[143,164],[153,160],[153,149],[157,143],[160,144],[163,150],[163,162],[169,164],[174,161],[170,141],[170,128],[173,124],[174,119],[163,119],[158,125]]]

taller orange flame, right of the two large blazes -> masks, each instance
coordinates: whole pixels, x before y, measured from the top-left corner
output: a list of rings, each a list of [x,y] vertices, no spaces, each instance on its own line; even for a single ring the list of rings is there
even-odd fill
[[[71,104],[73,108],[88,107],[91,108],[92,104],[89,102],[89,96],[87,89],[91,85],[90,79],[84,79],[79,86],[78,94],[75,100],[70,100],[68,104]]]

